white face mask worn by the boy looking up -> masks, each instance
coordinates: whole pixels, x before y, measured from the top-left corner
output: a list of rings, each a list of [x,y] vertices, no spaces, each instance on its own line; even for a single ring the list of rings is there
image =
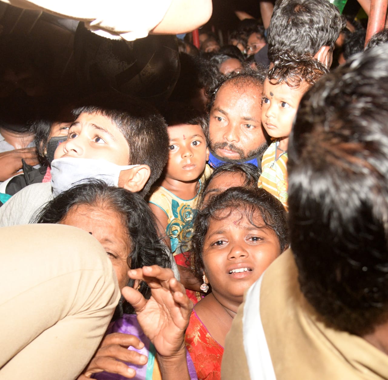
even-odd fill
[[[112,162],[90,158],[58,158],[51,162],[51,186],[56,197],[69,188],[87,182],[90,179],[104,181],[109,186],[118,186],[123,170],[139,165],[120,166]]]

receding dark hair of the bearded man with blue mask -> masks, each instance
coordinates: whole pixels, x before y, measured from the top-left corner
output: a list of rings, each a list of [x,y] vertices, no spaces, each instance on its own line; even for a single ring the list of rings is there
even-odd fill
[[[211,87],[208,92],[208,97],[209,97],[209,102],[207,106],[208,112],[210,112],[211,107],[213,107],[218,90],[225,83],[231,81],[234,84],[236,84],[236,86],[246,86],[246,85],[254,84],[262,87],[266,74],[267,74],[267,71],[260,66],[258,70],[253,70],[250,67],[246,67],[244,68],[244,70],[240,71],[239,73],[232,71],[229,74],[219,77],[217,83],[215,83],[215,85]]]

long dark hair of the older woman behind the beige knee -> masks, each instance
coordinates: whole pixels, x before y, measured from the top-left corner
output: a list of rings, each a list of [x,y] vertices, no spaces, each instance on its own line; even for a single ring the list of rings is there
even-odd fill
[[[165,247],[159,240],[154,216],[145,200],[139,194],[108,186],[103,181],[82,183],[60,193],[38,210],[31,222],[59,223],[73,207],[80,205],[100,207],[120,215],[130,242],[131,252],[127,263],[131,269],[150,265],[171,267]],[[128,285],[133,286],[133,280]],[[151,296],[151,290],[145,282],[141,283],[139,291],[146,298]],[[131,308],[127,305],[126,312]]]

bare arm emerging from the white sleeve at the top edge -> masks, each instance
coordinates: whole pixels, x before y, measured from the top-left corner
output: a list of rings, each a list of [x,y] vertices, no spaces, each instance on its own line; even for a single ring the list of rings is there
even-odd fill
[[[191,32],[209,21],[211,0],[172,0],[162,21],[152,29],[154,34]]]

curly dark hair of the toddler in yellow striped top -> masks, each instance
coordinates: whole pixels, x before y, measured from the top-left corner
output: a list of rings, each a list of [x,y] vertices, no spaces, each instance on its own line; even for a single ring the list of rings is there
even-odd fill
[[[312,55],[296,55],[286,51],[275,59],[267,78],[272,85],[286,83],[291,88],[298,88],[301,84],[308,87],[314,85],[327,73],[329,69]]]

